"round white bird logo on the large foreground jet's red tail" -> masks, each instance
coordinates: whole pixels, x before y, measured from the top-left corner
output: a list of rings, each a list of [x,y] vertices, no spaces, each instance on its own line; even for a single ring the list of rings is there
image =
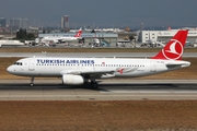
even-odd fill
[[[183,55],[183,45],[177,39],[171,39],[170,44],[162,49],[162,53],[166,59],[177,60]]]

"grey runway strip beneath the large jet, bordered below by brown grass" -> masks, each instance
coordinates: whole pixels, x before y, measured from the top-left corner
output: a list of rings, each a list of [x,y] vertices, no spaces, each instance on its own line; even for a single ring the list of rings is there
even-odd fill
[[[196,100],[197,80],[104,80],[99,88],[61,80],[0,80],[0,100]]]

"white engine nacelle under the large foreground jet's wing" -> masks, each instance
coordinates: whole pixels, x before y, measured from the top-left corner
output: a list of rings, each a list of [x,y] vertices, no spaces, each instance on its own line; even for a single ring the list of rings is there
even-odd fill
[[[62,83],[68,85],[81,85],[84,83],[84,79],[81,75],[63,74]]]

